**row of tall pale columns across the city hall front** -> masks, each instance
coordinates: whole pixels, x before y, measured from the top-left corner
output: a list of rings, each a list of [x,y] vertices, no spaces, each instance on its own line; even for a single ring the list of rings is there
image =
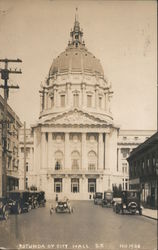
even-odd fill
[[[75,133],[74,133],[75,134]],[[78,151],[80,152],[80,169],[88,170],[88,141],[87,141],[87,133],[83,132],[81,134],[81,144],[78,145]],[[95,133],[96,134],[96,133]],[[54,143],[56,143],[52,138],[52,132],[41,132],[41,142],[40,142],[40,168],[47,169],[52,168],[52,157],[54,154]],[[97,166],[96,169],[103,170],[108,168],[108,134],[98,133],[97,147],[96,147],[96,155],[97,155]],[[64,169],[71,169],[71,153],[70,152],[70,133],[64,133],[65,140],[62,141],[63,155],[64,155]],[[56,146],[59,148],[60,145]],[[90,150],[93,151],[91,147]],[[75,147],[76,150],[76,147]]]

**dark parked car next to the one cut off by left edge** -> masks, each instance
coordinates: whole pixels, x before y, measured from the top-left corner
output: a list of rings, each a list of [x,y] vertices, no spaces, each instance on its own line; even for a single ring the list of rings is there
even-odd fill
[[[23,190],[10,191],[7,194],[11,212],[21,214],[29,211],[29,192]]]

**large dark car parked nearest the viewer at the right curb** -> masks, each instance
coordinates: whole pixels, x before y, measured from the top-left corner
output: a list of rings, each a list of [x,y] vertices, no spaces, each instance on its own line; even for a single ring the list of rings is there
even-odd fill
[[[142,207],[140,205],[140,192],[137,190],[125,190],[121,192],[120,201],[116,202],[114,205],[114,211],[116,213],[130,213],[142,214]]]

